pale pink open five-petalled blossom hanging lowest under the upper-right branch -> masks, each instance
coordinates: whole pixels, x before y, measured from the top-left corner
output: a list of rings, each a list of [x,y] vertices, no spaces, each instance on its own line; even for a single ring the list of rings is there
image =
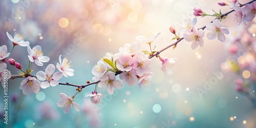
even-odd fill
[[[218,39],[222,42],[225,41],[225,35],[229,34],[228,29],[226,26],[223,26],[219,19],[215,19],[212,23],[206,24],[206,29],[210,30],[206,36],[208,39],[212,40],[218,36]]]

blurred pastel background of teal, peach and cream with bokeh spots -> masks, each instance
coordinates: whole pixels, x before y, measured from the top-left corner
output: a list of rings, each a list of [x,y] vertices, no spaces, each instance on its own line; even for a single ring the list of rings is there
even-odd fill
[[[223,1],[4,0],[0,4],[0,46],[6,45],[8,52],[12,48],[7,31],[11,35],[23,34],[31,47],[40,45],[51,58],[43,67],[33,63],[34,75],[45,71],[50,63],[56,65],[62,54],[72,60],[75,72],[59,81],[81,85],[92,79],[93,66],[106,52],[117,53],[119,47],[132,43],[146,31],[161,32],[153,42],[160,50],[174,37],[169,26],[182,24],[185,17],[192,19],[194,7],[210,13],[211,9],[221,9],[223,13],[230,10],[218,6],[218,2]],[[231,13],[222,24],[238,27],[233,17]],[[198,17],[196,27],[212,19]],[[69,114],[63,113],[56,102],[59,93],[74,95],[74,87],[58,85],[25,96],[19,90],[23,79],[9,80],[9,120],[6,125],[2,117],[4,90],[0,88],[0,127],[256,127],[255,107],[235,90],[233,80],[241,76],[221,70],[221,63],[230,57],[226,44],[228,39],[207,40],[205,35],[204,47],[193,51],[191,43],[183,40],[176,49],[160,54],[177,58],[174,68],[162,72],[161,61],[152,59],[150,67],[155,75],[150,87],[141,90],[123,82],[123,88],[116,89],[113,95],[99,88],[102,102],[94,105],[90,98],[84,98],[94,91],[94,86],[89,86],[75,97],[81,111],[72,109]],[[141,44],[141,50],[148,50],[148,46]],[[18,46],[10,57],[26,69],[27,56],[27,48]],[[17,74],[14,67],[7,65],[12,74]]]

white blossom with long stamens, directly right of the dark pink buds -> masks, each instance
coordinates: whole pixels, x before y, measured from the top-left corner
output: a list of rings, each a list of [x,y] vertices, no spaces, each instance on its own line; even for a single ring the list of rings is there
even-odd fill
[[[35,61],[37,66],[43,66],[42,62],[48,62],[50,58],[48,56],[44,56],[44,51],[42,51],[41,46],[35,46],[33,49],[28,47],[28,57],[31,62]]]

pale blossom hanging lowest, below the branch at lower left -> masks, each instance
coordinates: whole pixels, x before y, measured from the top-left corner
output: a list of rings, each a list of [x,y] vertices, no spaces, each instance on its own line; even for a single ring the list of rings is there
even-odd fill
[[[63,112],[64,112],[64,113],[66,113],[66,114],[69,113],[70,110],[71,110],[71,108],[72,108],[72,105],[74,106],[74,108],[75,108],[75,110],[76,110],[77,112],[80,111],[80,106],[79,106],[79,104],[76,103],[73,98],[68,97],[68,96],[67,96],[66,94],[64,94],[64,93],[60,93],[60,94],[59,94],[59,97],[60,97],[61,99],[59,99],[56,104],[57,104],[58,107],[63,108]]]

